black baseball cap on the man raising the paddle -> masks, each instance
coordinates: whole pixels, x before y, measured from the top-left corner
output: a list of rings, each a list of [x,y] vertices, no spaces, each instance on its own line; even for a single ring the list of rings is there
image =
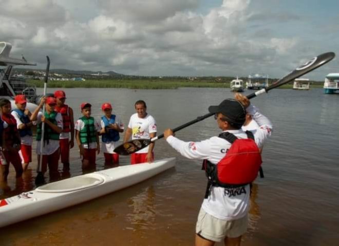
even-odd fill
[[[240,125],[240,127],[246,120],[246,109],[238,100],[234,99],[226,99],[217,106],[210,106],[209,111],[211,113],[222,113],[228,119],[228,122],[237,126]]]

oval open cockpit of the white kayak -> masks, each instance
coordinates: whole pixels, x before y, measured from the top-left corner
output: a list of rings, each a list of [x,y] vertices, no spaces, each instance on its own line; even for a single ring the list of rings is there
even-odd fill
[[[85,175],[64,179],[58,182],[42,185],[35,189],[36,192],[63,193],[83,190],[104,182],[99,175]]]

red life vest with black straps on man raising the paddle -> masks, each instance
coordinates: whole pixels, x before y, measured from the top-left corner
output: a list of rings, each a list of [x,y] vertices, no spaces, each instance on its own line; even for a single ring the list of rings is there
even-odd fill
[[[238,139],[228,132],[219,135],[230,142],[231,147],[216,165],[204,160],[203,169],[209,179],[205,198],[209,196],[211,186],[239,187],[256,179],[262,163],[260,149],[251,131],[246,134],[248,139]]]

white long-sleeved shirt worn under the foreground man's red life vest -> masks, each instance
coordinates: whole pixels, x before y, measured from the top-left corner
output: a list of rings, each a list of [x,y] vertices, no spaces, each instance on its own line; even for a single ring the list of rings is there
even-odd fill
[[[260,148],[266,138],[271,135],[272,124],[254,106],[250,105],[247,111],[260,126],[253,133],[255,142]],[[242,129],[228,130],[228,132],[234,134],[237,138],[247,138],[246,133]],[[227,149],[231,147],[231,143],[219,137],[212,137],[201,142],[184,142],[170,136],[166,141],[184,157],[189,159],[206,159],[213,164],[217,164],[225,156]],[[235,192],[236,189],[239,190]],[[250,185],[246,185],[244,188],[231,189],[212,186],[211,195],[203,200],[201,207],[206,213],[218,219],[234,220],[242,218],[248,213],[249,200]]]

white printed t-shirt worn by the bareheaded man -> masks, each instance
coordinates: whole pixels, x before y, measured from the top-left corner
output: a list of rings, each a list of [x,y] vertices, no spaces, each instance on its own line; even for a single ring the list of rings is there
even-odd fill
[[[138,113],[134,113],[128,123],[128,128],[132,129],[132,139],[150,139],[150,133],[157,132],[157,124],[151,115],[146,115],[145,118],[139,118]],[[138,154],[148,153],[149,146],[140,149]]]

